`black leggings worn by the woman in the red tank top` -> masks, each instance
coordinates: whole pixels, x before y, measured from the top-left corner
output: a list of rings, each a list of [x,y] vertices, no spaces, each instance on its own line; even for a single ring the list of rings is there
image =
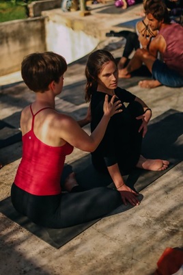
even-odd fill
[[[64,228],[89,222],[107,215],[122,204],[119,192],[108,187],[55,196],[35,196],[13,183],[11,198],[16,211],[48,228]]]

